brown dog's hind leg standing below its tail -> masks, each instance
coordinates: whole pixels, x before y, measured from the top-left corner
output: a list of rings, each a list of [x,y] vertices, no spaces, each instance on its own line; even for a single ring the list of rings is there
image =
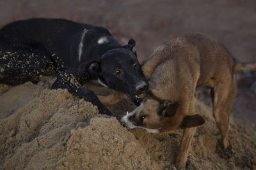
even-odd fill
[[[236,97],[236,81],[232,80],[230,85],[220,83],[214,87],[213,116],[220,130],[224,150],[227,149],[228,124],[232,104]]]

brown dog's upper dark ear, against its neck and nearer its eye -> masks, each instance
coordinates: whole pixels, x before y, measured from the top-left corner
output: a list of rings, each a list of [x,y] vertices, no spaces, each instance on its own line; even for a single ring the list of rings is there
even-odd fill
[[[158,114],[160,117],[174,117],[179,108],[178,102],[168,102],[165,101],[164,104],[160,107]]]

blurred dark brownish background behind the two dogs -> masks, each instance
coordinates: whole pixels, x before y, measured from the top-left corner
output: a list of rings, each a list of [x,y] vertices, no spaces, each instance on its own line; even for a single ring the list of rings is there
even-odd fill
[[[204,32],[241,62],[256,62],[256,1],[179,0],[0,0],[0,27],[26,18],[66,18],[106,27],[120,43],[136,40],[140,62],[181,32]],[[256,122],[256,71],[237,72],[236,117]],[[199,99],[211,104],[209,90]]]

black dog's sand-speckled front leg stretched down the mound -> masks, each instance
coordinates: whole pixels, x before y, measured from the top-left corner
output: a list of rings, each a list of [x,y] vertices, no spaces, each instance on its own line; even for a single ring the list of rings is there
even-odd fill
[[[52,89],[67,89],[71,94],[83,98],[85,101],[96,105],[99,109],[99,113],[106,114],[113,117],[112,113],[100,103],[96,94],[83,86],[81,86],[77,78],[74,74],[70,73],[70,71],[66,71],[65,73],[61,73],[61,75],[57,78],[56,81],[52,84]]]

